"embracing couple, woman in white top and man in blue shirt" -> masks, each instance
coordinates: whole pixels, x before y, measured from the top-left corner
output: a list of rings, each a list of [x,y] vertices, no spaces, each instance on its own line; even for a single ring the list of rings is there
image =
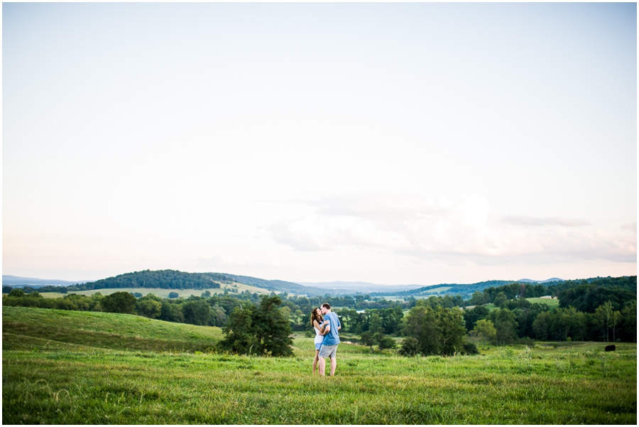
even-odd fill
[[[320,364],[320,375],[324,375],[326,369],[325,357],[331,360],[331,377],[337,367],[337,345],[339,344],[338,330],[342,329],[337,314],[331,313],[329,303],[323,303],[320,308],[313,308],[311,324],[315,329],[315,359],[313,360],[313,374],[317,362]]]

